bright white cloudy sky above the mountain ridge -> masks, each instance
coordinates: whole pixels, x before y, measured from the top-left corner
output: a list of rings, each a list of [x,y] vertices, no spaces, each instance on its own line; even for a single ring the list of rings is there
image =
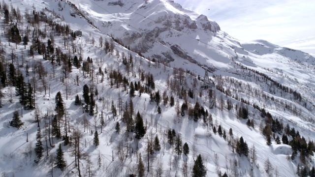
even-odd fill
[[[315,56],[315,0],[174,0],[243,41],[255,39]]]

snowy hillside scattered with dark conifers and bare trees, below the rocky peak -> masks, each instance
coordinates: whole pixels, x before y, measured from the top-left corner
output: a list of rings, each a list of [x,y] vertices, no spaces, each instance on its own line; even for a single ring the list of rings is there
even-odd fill
[[[141,1],[139,14],[153,1]],[[129,3],[94,1],[91,9]],[[246,63],[238,44],[237,57],[220,68],[194,59],[199,54],[180,40],[170,47],[158,34],[151,40],[172,25],[185,35],[206,30],[198,19],[157,16],[150,25],[165,29],[134,28],[150,41],[138,45],[139,31],[120,36],[135,24],[112,30],[116,21],[102,14],[100,24],[86,8],[71,0],[0,2],[1,177],[315,177],[312,89]],[[210,29],[204,35],[221,35]],[[167,59],[149,48],[156,43]],[[200,89],[206,80],[216,89]]]

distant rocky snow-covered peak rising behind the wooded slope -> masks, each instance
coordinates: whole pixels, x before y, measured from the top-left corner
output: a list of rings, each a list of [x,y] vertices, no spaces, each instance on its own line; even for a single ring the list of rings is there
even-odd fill
[[[233,67],[234,59],[254,68],[261,66],[264,69],[258,67],[257,70],[264,73],[266,69],[283,72],[290,79],[298,79],[297,76],[305,74],[305,69],[313,74],[315,58],[311,55],[263,40],[238,41],[221,31],[216,22],[183,9],[172,0],[74,2],[96,27],[104,34],[119,39],[124,46],[145,57],[193,70],[197,75],[203,75],[203,70],[194,68],[194,64],[214,72],[229,70]],[[292,64],[301,70],[296,70]],[[273,77],[277,77],[277,74]],[[282,78],[277,77],[277,80]],[[312,82],[301,82],[314,87]],[[289,85],[298,89],[294,82]]]

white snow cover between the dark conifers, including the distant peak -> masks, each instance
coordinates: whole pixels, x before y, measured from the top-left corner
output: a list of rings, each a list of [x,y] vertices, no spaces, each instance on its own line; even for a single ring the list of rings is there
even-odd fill
[[[274,118],[279,118],[284,125],[289,123],[300,132],[307,140],[313,140],[315,137],[314,125],[314,61],[315,59],[301,51],[282,48],[280,46],[271,44],[267,41],[259,40],[252,42],[237,41],[225,32],[220,30],[220,27],[215,22],[209,21],[203,15],[195,14],[194,12],[181,8],[169,0],[122,0],[124,6],[108,5],[111,0],[70,0],[77,5],[84,17],[80,17],[77,13],[75,17],[70,13],[76,10],[68,3],[61,2],[63,10],[59,10],[59,1],[55,0],[12,0],[14,7],[41,10],[45,9],[47,16],[55,18],[56,22],[69,24],[72,30],[81,30],[82,37],[77,37],[74,44],[81,46],[83,59],[87,57],[93,58],[95,73],[98,67],[104,69],[119,70],[128,78],[129,81],[138,82],[139,70],[145,73],[153,74],[155,78],[156,89],[162,93],[166,90],[169,97],[175,96],[175,102],[181,105],[184,100],[180,99],[176,93],[169,89],[168,79],[175,78],[174,68],[183,68],[185,81],[183,87],[193,88],[194,82],[196,88],[202,85],[202,82],[196,78],[198,75],[203,76],[203,67],[208,68],[214,76],[211,79],[215,81],[217,86],[222,86],[225,90],[230,90],[233,95],[238,95],[246,100],[249,100],[250,105],[248,109],[250,112],[250,119],[255,120],[255,127],[249,128],[246,125],[246,120],[237,118],[237,110],[228,111],[225,107],[223,110],[219,106],[210,109],[209,97],[205,91],[202,96],[199,96],[199,90],[195,92],[195,97],[188,98],[189,106],[193,107],[196,102],[200,103],[213,116],[213,122],[218,128],[219,125],[228,133],[229,128],[233,129],[234,138],[241,136],[248,143],[249,148],[254,146],[257,150],[257,161],[253,165],[253,176],[267,177],[264,170],[264,162],[267,158],[270,159],[275,169],[282,177],[295,177],[296,166],[300,160],[287,160],[287,156],[292,153],[292,149],[287,145],[276,145],[272,140],[272,145],[267,146],[265,137],[261,135],[259,130],[260,122],[264,122],[260,118],[260,113],[252,107],[252,104],[258,105],[269,111]],[[24,11],[25,9],[20,9]],[[53,15],[56,13],[56,18]],[[1,17],[1,20],[3,17]],[[64,20],[63,20],[64,19]],[[87,22],[87,19],[96,27],[93,27]],[[177,23],[178,22],[178,23]],[[25,23],[26,24],[26,23]],[[209,25],[210,24],[210,25]],[[91,34],[91,35],[90,35]],[[105,51],[99,48],[98,38],[102,36],[108,41],[112,35],[115,38],[120,38],[124,46],[130,47],[134,52],[128,51],[125,47],[115,43],[116,50],[120,53],[124,52],[126,55],[131,54],[134,58],[133,71],[126,72],[126,67],[121,59],[114,53],[105,54]],[[91,37],[95,38],[95,45],[91,44]],[[45,39],[47,41],[47,39]],[[63,38],[55,36],[56,47],[63,48]],[[1,47],[8,46],[7,40],[1,37]],[[12,44],[11,44],[12,45]],[[31,45],[29,42],[28,46]],[[17,45],[16,51],[23,51],[24,46]],[[67,47],[70,50],[70,46]],[[9,56],[11,48],[4,48],[6,56]],[[182,51],[180,53],[179,51]],[[63,50],[68,52],[68,50]],[[140,57],[135,52],[141,52],[145,57],[151,59],[158,59],[160,62],[165,61],[166,65],[155,64],[148,59]],[[70,52],[69,52],[70,53]],[[183,54],[181,56],[181,54]],[[18,59],[21,60],[21,53],[18,53]],[[74,54],[79,56],[78,51]],[[36,55],[34,59],[28,56],[28,63],[31,65],[36,61],[42,61],[47,72],[47,80],[49,82],[50,94],[44,94],[43,89],[38,89],[36,92],[36,105],[38,112],[41,115],[40,125],[44,129],[45,119],[43,118],[47,112],[52,112],[55,108],[55,95],[58,91],[63,94],[63,100],[67,114],[70,119],[71,128],[78,128],[83,133],[81,142],[81,149],[90,155],[93,166],[92,172],[95,176],[100,177],[126,177],[128,174],[137,174],[136,172],[136,141],[134,135],[129,133],[126,138],[126,126],[122,122],[121,116],[115,119],[110,111],[111,102],[114,101],[118,105],[118,95],[123,98],[124,103],[129,102],[129,94],[122,91],[122,88],[117,89],[115,86],[110,87],[110,79],[105,74],[104,83],[100,83],[100,75],[96,76],[97,84],[95,87],[99,91],[97,100],[98,114],[100,111],[104,112],[107,119],[107,125],[102,127],[100,133],[100,145],[93,146],[93,135],[86,130],[83,132],[83,117],[87,117],[91,128],[94,131],[95,120],[99,124],[99,120],[91,117],[88,114],[82,113],[82,108],[74,105],[74,97],[78,94],[82,98],[82,87],[84,84],[90,84],[91,76],[83,76],[82,70],[75,67],[69,75],[69,79],[65,81],[70,91],[68,99],[65,98],[65,83],[61,82],[63,77],[62,67],[58,66],[56,69],[56,76],[52,76],[52,66],[49,61],[42,59],[42,56]],[[149,65],[149,63],[151,63]],[[249,69],[241,69],[247,66],[260,73],[266,74],[271,79],[283,84],[290,89],[297,90],[302,95],[302,100],[293,99],[292,94],[282,91],[277,87],[272,87],[270,81],[265,81],[262,77],[254,75]],[[24,68],[21,68],[24,73]],[[26,77],[26,81],[31,79],[34,71],[30,69],[30,76]],[[75,84],[76,76],[79,76],[79,86]],[[257,80],[260,78],[260,80]],[[40,86],[40,82],[38,83]],[[181,87],[182,87],[181,86]],[[265,94],[270,98],[257,96],[250,88],[254,88],[260,95]],[[2,100],[3,107],[0,108],[0,172],[9,176],[15,177],[43,177],[51,176],[50,155],[56,154],[56,149],[62,139],[56,139],[55,148],[48,148],[48,158],[42,158],[38,164],[33,162],[34,153],[32,157],[28,155],[27,149],[35,144],[35,135],[37,130],[37,123],[34,115],[35,110],[23,110],[23,118],[25,125],[21,129],[15,129],[9,126],[8,121],[11,120],[13,112],[19,110],[21,112],[21,105],[18,102],[18,97],[15,96],[14,87],[6,87],[1,89],[4,94]],[[9,101],[10,93],[13,93],[12,103]],[[224,101],[227,99],[232,101],[233,105],[241,106],[239,100],[226,96],[221,91],[217,90],[217,104],[222,97]],[[271,99],[274,98],[274,100]],[[188,175],[191,176],[191,169],[194,162],[194,155],[192,147],[196,147],[196,155],[202,155],[207,168],[207,177],[217,176],[218,171],[226,172],[232,176],[232,166],[234,160],[238,161],[237,173],[239,176],[250,176],[252,164],[246,157],[240,157],[237,153],[233,153],[228,147],[228,143],[220,135],[213,133],[212,129],[208,129],[202,120],[194,122],[188,119],[185,115],[177,116],[176,106],[171,107],[169,104],[162,108],[162,114],[157,114],[157,104],[149,103],[150,95],[143,93],[132,98],[134,104],[134,111],[139,111],[144,122],[147,123],[147,134],[138,142],[139,152],[142,154],[142,159],[147,165],[146,147],[150,136],[158,135],[161,145],[161,151],[156,152],[151,157],[151,166],[146,176],[157,176],[157,167],[162,166],[162,176],[182,176],[184,162],[187,159]],[[276,100],[276,101],[275,101]],[[293,113],[292,110],[284,109],[284,104],[291,104],[298,111],[298,114]],[[304,106],[306,104],[306,106]],[[179,119],[178,119],[179,118]],[[47,120],[46,120],[47,121]],[[121,124],[121,134],[115,133],[116,122]],[[100,132],[100,126],[97,126]],[[176,155],[174,148],[167,143],[166,131],[168,128],[174,129],[182,138],[183,144],[188,143],[190,153],[186,155]],[[71,130],[72,131],[72,130]],[[42,131],[43,132],[43,131]],[[29,142],[26,142],[26,134],[28,134]],[[128,145],[126,145],[126,139]],[[164,141],[163,141],[164,139]],[[44,142],[45,143],[45,142]],[[129,146],[129,154],[125,152],[125,159],[123,161],[118,159],[117,147],[123,144]],[[45,145],[45,144],[44,144]],[[33,148],[32,147],[32,148]],[[131,153],[130,148],[134,151]],[[76,167],[74,166],[74,157],[71,156],[71,148],[64,146],[65,159],[67,161],[67,168],[62,172],[56,168],[53,170],[54,176],[78,176]],[[126,150],[126,149],[125,149]],[[112,153],[114,151],[114,161],[112,161]],[[97,166],[97,154],[101,154],[101,167]],[[46,148],[45,155],[46,156]],[[311,156],[313,162],[309,165],[314,166],[314,157]],[[82,173],[88,176],[87,161],[82,160]]]

